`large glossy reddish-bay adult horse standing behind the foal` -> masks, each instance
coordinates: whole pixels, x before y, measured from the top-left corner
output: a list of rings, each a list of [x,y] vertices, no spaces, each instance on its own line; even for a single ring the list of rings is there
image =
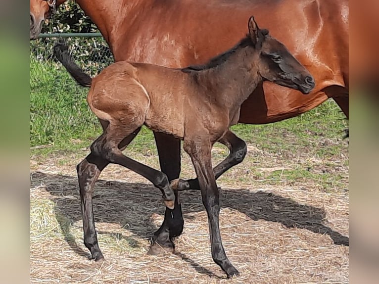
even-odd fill
[[[30,0],[30,38],[36,39],[49,12],[65,0]],[[244,36],[246,20],[283,42],[312,74],[310,95],[265,83],[241,106],[239,122],[264,124],[304,113],[332,97],[348,117],[348,0],[77,0],[108,43],[115,61],[177,68],[202,64]],[[154,133],[161,170],[179,178],[180,141]],[[98,171],[99,174],[100,171]],[[176,197],[178,192],[175,190]],[[176,198],[154,233],[151,252],[173,250],[183,230]]]

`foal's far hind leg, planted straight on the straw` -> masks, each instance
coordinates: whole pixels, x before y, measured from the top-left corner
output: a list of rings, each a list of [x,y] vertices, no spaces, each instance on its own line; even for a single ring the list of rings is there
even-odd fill
[[[106,127],[106,123],[102,121],[100,122],[104,129]],[[118,147],[121,151],[124,150],[126,146],[133,141],[140,130],[141,128],[138,128],[135,132],[130,134],[119,143]],[[107,160],[91,152],[76,167],[79,178],[84,244],[90,250],[91,258],[95,260],[101,260],[104,257],[97,243],[94,211],[92,205],[92,194],[98,176],[100,175],[101,171],[108,165],[108,163],[109,162]]]

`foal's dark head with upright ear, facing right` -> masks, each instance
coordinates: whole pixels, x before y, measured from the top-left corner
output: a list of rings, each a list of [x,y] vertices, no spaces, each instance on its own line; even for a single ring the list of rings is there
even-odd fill
[[[315,81],[307,69],[268,30],[259,29],[254,17],[250,17],[249,36],[257,52],[258,73],[264,80],[309,94]]]

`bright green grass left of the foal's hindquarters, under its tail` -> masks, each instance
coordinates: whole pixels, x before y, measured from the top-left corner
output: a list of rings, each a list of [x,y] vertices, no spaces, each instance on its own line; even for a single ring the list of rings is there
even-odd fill
[[[31,146],[73,149],[88,144],[100,133],[87,105],[88,89],[76,85],[64,69],[58,70],[53,63],[41,63],[32,56],[30,59]]]

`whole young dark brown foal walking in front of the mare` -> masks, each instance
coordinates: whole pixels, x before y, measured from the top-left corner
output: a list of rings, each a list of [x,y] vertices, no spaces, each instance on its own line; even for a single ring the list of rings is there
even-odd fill
[[[103,134],[91,145],[91,153],[77,166],[83,215],[84,243],[95,260],[103,259],[97,243],[92,208],[95,181],[108,163],[129,168],[151,181],[173,208],[175,195],[167,176],[122,153],[142,125],[184,141],[201,189],[208,214],[213,260],[228,278],[238,275],[226,256],[219,228],[219,190],[216,179],[246,154],[246,144],[229,127],[236,124],[242,102],[265,80],[308,94],[314,88],[309,72],[282,43],[260,30],[253,17],[249,34],[237,46],[213,58],[208,64],[184,69],[157,65],[116,62],[95,78],[85,74],[55,47],[57,58],[82,86],[91,87],[87,100],[99,118]],[[211,148],[221,142],[229,156],[212,169]],[[194,181],[194,182],[193,182]],[[187,181],[172,186],[187,189]]]

